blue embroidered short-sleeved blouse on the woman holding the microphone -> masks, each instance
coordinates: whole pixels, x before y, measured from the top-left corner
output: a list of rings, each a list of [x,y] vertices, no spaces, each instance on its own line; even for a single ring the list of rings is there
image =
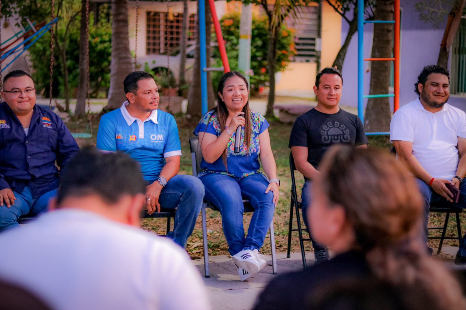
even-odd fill
[[[201,121],[199,121],[196,129],[194,129],[194,135],[199,135],[199,132],[206,132],[216,135],[217,137],[221,135],[220,123],[216,113],[214,112],[215,111],[209,111],[204,115]],[[260,173],[259,135],[270,125],[264,116],[259,113],[251,111],[251,114],[251,140],[249,141],[249,152],[247,150],[247,144],[244,141],[244,127],[241,128],[240,152],[234,152],[236,132],[233,130],[233,135],[230,137],[230,141],[228,141],[226,145],[226,165],[228,169],[226,169],[225,164],[223,163],[222,156],[213,163],[208,163],[202,159],[201,171],[198,176],[206,175],[208,173],[220,173],[242,178],[255,173]]]

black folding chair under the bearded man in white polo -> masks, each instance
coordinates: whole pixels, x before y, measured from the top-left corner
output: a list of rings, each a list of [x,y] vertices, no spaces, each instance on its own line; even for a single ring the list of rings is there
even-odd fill
[[[397,150],[395,147],[390,149],[390,153],[397,155]],[[442,235],[440,237],[428,236],[427,239],[439,239],[439,248],[437,249],[437,255],[442,251],[443,241],[445,239],[458,239],[459,244],[461,244],[461,221],[459,220],[459,214],[463,212],[462,208],[452,205],[451,202],[441,201],[441,202],[432,202],[429,206],[429,213],[445,213],[445,222],[441,227],[428,227],[428,230],[441,230]],[[456,229],[458,232],[458,237],[455,236],[445,236],[446,227],[448,226],[448,220],[450,219],[450,213],[454,213],[456,216]]]

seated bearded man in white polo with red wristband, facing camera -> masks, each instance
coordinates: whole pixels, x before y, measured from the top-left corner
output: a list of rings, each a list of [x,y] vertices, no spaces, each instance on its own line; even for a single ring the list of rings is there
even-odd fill
[[[427,241],[429,204],[452,202],[451,183],[461,194],[458,205],[466,202],[466,114],[448,103],[448,71],[439,65],[426,66],[418,76],[418,99],[401,107],[391,119],[390,142],[398,159],[418,178],[425,201],[424,237]],[[461,160],[459,159],[461,158]],[[432,249],[430,249],[432,253]],[[466,263],[466,238],[459,245],[455,263]]]

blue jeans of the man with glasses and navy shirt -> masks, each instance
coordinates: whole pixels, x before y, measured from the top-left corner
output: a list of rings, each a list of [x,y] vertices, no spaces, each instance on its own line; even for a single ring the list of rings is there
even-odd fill
[[[50,198],[56,196],[57,189],[51,190],[38,198],[33,198],[31,188],[26,186],[22,193],[13,191],[16,200],[10,208],[5,202],[0,206],[0,231],[18,226],[18,219],[28,214],[37,215],[48,210]]]

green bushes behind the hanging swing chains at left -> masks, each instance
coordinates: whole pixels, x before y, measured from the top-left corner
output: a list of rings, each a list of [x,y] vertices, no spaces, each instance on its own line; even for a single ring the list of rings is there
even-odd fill
[[[89,20],[93,20],[92,17]],[[67,65],[69,72],[69,87],[71,96],[73,89],[79,83],[79,40],[80,40],[80,16],[70,26],[67,38],[64,38],[65,25],[58,27],[58,40],[65,42]],[[98,97],[101,91],[107,93],[110,87],[110,54],[111,54],[111,24],[105,20],[97,25],[89,25],[89,75],[92,97]],[[50,33],[44,34],[30,48],[29,55],[33,63],[33,78],[37,89],[48,96],[50,82]],[[53,96],[63,96],[63,67],[62,58],[57,48],[54,50],[54,77]]]

